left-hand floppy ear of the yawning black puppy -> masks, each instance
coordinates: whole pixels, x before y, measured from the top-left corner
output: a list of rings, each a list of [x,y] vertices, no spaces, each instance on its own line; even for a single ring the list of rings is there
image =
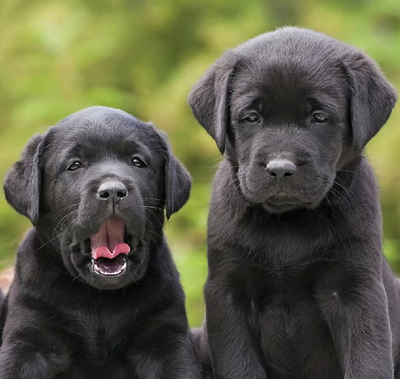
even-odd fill
[[[14,163],[4,181],[7,201],[17,212],[28,217],[33,225],[39,218],[43,141],[42,135],[31,138],[21,154],[21,160]]]

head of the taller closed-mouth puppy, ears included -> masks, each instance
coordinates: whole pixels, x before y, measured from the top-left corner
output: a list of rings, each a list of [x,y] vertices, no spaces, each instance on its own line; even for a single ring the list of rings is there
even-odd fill
[[[365,54],[299,28],[227,52],[189,96],[197,120],[238,167],[243,195],[273,213],[317,207],[395,102]]]

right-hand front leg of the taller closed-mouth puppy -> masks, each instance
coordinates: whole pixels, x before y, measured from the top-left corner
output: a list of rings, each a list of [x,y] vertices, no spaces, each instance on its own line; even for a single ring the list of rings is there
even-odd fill
[[[324,278],[317,298],[344,379],[393,379],[388,302],[379,279],[336,272]]]

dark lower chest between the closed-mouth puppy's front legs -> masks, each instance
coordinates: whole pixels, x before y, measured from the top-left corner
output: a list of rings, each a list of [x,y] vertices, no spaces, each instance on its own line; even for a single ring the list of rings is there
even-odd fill
[[[257,321],[269,377],[341,377],[330,330],[309,298],[278,296]]]

